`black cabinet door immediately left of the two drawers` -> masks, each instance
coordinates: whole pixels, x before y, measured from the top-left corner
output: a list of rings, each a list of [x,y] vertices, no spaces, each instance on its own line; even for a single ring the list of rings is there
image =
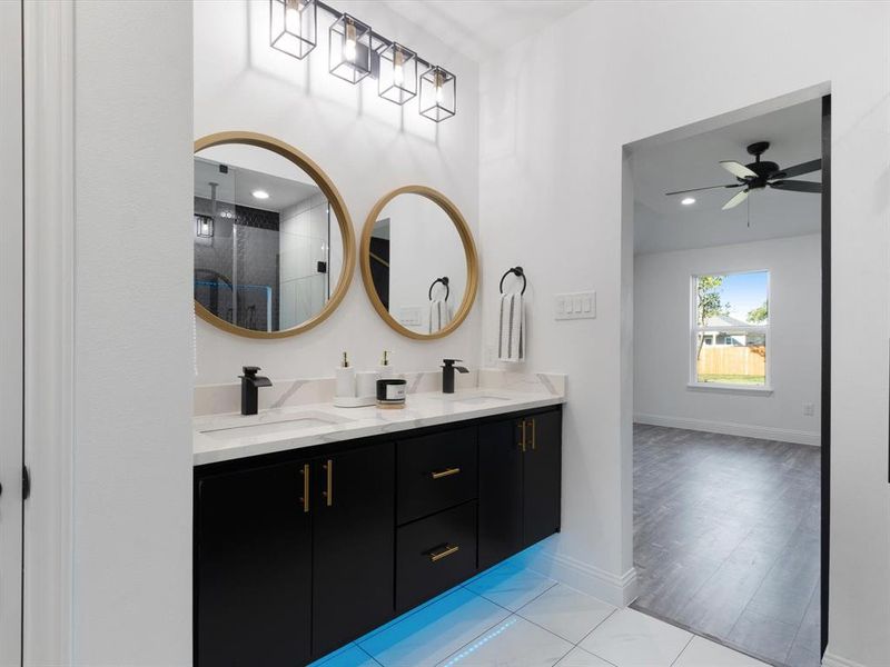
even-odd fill
[[[395,446],[316,460],[313,654],[394,615]]]

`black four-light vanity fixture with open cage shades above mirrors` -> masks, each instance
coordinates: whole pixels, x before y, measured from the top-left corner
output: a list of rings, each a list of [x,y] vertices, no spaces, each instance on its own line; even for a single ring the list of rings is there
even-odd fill
[[[441,122],[457,111],[457,77],[415,51],[374,32],[370,26],[323,0],[269,0],[270,42],[303,59],[316,46],[318,10],[334,17],[328,30],[328,71],[349,83],[377,79],[377,93],[404,104],[421,93],[421,115]],[[418,82],[418,67],[426,71]],[[425,92],[425,89],[426,92]]]

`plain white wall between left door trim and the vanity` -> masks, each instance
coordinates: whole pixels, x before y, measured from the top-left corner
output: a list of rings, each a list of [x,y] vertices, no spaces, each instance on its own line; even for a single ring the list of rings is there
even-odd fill
[[[75,23],[70,664],[190,665],[191,7]]]

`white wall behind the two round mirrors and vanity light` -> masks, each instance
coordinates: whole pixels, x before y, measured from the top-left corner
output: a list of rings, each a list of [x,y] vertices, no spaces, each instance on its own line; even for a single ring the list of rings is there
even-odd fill
[[[457,74],[457,116],[438,126],[377,97],[374,81],[359,86],[327,72],[327,21],[304,61],[269,48],[267,0],[195,3],[194,137],[224,130],[275,136],[307,153],[332,178],[353,218],[356,235],[386,192],[419,183],[441,190],[463,211],[474,233],[478,218],[477,66],[449,51],[416,24],[379,2],[345,1],[384,34],[404,41]],[[339,308],[320,326],[294,338],[246,339],[198,321],[198,385],[236,381],[243,365],[276,378],[332,376],[343,350],[356,368],[373,368],[383,349],[404,370],[429,369],[444,357],[478,364],[477,311],[452,336],[415,341],[395,334],[374,311],[356,267]]]

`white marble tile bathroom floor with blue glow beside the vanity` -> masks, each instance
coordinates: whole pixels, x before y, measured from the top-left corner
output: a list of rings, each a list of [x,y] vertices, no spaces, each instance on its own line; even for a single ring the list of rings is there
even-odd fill
[[[763,667],[515,563],[396,618],[313,667]]]

